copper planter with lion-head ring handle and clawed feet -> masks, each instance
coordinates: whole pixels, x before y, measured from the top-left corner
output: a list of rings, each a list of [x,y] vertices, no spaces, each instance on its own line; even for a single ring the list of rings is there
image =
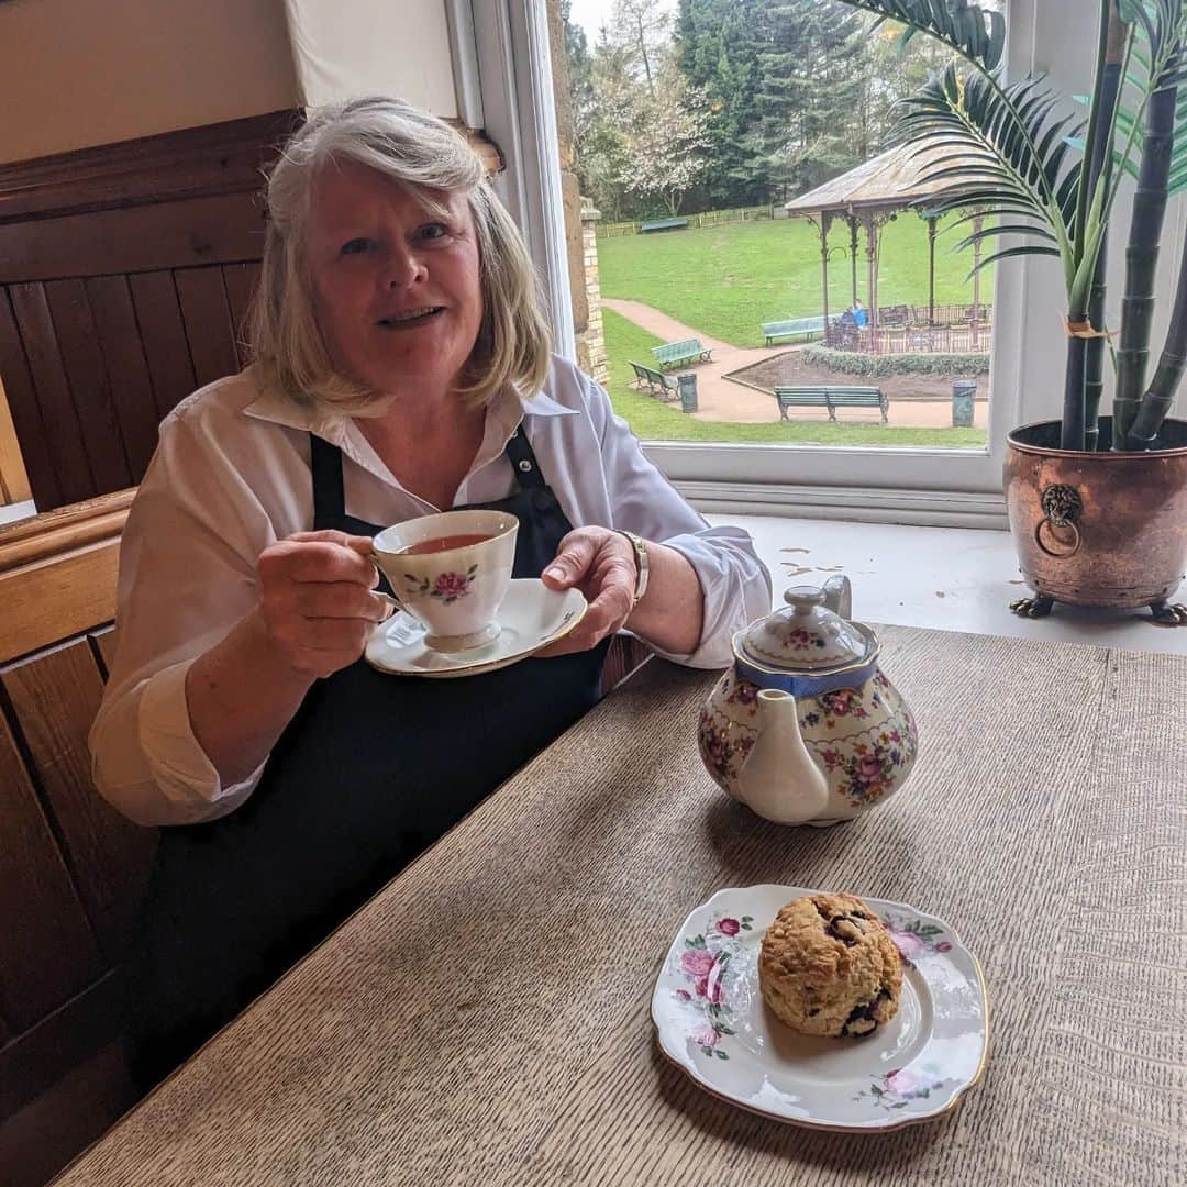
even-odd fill
[[[1100,438],[1110,439],[1109,417]],[[1008,438],[1005,504],[1035,602],[1128,609],[1150,605],[1174,621],[1166,601],[1187,571],[1187,421],[1167,420],[1148,453],[1059,449],[1059,421],[1016,429]]]

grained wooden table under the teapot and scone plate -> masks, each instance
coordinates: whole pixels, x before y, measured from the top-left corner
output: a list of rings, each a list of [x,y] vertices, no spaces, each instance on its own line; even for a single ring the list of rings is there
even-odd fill
[[[781,829],[728,800],[693,741],[712,675],[653,661],[62,1182],[1187,1182],[1187,661],[884,635],[922,754],[874,814]],[[757,882],[952,922],[994,1015],[958,1110],[821,1134],[658,1054],[677,928]]]

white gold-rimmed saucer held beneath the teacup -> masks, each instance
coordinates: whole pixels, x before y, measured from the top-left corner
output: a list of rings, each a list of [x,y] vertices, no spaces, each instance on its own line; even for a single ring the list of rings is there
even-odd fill
[[[513,580],[499,610],[499,637],[491,642],[465,652],[434,652],[425,645],[425,628],[399,610],[372,633],[364,658],[372,667],[394,675],[478,675],[527,659],[567,635],[585,608],[580,590],[557,592],[539,578]]]

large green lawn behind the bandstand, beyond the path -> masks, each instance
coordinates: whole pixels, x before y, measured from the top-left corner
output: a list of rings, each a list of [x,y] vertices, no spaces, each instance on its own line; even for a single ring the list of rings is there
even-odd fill
[[[954,218],[953,218],[954,221]],[[952,253],[967,228],[935,240],[935,301],[972,301],[972,252]],[[849,228],[829,235],[829,311],[850,303]],[[703,334],[736,347],[761,347],[762,322],[820,313],[820,237],[802,218],[729,223],[658,235],[624,235],[597,243],[602,293],[641,300]],[[858,247],[857,294],[867,300],[865,239]],[[994,269],[980,273],[980,299],[994,294]],[[868,301],[867,301],[868,303]],[[927,304],[927,224],[903,212],[882,231],[880,305]]]

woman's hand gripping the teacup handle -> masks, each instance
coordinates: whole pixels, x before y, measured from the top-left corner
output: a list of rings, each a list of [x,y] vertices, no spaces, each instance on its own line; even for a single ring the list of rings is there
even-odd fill
[[[345,532],[296,532],[256,561],[259,612],[269,642],[294,672],[332,675],[354,664],[389,604],[372,592],[372,540]]]

